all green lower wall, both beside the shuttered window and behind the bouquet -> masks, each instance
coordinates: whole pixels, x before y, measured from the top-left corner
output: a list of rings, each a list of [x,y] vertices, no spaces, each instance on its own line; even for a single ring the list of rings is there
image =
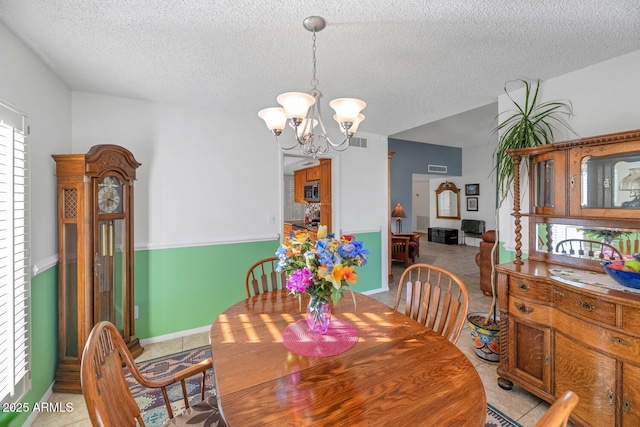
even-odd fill
[[[367,265],[357,269],[357,292],[382,287],[380,232],[356,236],[369,250]],[[227,307],[245,298],[244,276],[255,261],[275,255],[279,240],[231,243],[135,252],[136,335],[140,339],[209,326]],[[54,381],[58,337],[58,269],[50,268],[31,283],[31,390],[22,400],[32,408]],[[21,426],[29,416],[0,427]]]

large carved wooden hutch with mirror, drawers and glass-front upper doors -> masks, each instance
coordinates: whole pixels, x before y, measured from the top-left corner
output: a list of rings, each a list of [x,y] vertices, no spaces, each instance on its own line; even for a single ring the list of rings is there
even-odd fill
[[[640,293],[617,285],[595,257],[557,243],[615,231],[637,252],[640,194],[620,182],[640,169],[640,130],[512,150],[516,259],[496,267],[501,319],[498,382],[552,403],[567,390],[576,425],[640,425]],[[520,170],[528,163],[529,209]],[[635,171],[634,171],[635,169]],[[526,194],[526,193],[525,193]],[[633,196],[635,195],[635,199]],[[629,200],[631,196],[632,200]],[[528,222],[528,258],[522,228]]]

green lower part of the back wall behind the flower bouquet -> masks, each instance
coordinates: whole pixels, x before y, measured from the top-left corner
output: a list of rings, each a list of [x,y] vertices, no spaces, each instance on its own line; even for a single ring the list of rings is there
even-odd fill
[[[369,250],[357,270],[354,291],[381,287],[379,232],[356,236]],[[158,337],[208,326],[227,307],[246,297],[244,276],[255,261],[275,255],[279,240],[137,251],[136,335]]]

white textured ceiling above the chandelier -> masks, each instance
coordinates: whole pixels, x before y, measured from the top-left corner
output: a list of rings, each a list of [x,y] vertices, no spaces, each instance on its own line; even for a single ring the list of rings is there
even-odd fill
[[[278,94],[311,87],[310,15],[327,21],[317,34],[325,115],[331,99],[361,98],[360,129],[383,135],[487,112],[476,109],[507,80],[640,49],[638,0],[0,0],[0,19],[74,90],[258,121]],[[401,135],[433,138],[421,129]]]

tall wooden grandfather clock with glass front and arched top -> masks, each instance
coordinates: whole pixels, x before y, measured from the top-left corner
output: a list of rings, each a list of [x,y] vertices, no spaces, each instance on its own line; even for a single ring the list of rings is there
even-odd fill
[[[82,351],[93,326],[113,323],[134,357],[133,182],[140,163],[117,145],[57,154],[58,366],[53,390],[81,393]]]

